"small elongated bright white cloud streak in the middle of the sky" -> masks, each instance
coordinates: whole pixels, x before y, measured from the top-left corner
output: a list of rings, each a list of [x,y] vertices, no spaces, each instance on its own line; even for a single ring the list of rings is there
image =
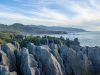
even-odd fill
[[[43,8],[39,12],[31,11],[30,14],[33,14],[33,15],[36,15],[36,16],[39,16],[42,18],[52,19],[52,20],[63,20],[63,21],[68,20],[68,16],[66,16],[60,12],[57,12],[57,11],[54,11],[51,9],[46,9],[46,8]]]

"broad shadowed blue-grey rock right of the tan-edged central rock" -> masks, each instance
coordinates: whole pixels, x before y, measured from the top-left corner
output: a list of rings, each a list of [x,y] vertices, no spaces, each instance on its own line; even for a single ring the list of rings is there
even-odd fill
[[[68,75],[94,75],[90,71],[91,61],[81,51],[76,52],[72,48],[62,47],[61,57]]]

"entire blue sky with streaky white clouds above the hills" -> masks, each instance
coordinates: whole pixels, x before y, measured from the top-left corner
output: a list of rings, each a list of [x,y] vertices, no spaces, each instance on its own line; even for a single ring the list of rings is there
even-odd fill
[[[100,31],[100,0],[0,0],[0,23]]]

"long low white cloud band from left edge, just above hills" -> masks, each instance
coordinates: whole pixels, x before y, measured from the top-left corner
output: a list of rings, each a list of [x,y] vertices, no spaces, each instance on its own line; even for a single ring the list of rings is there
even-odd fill
[[[37,14],[37,13],[36,13]],[[11,13],[11,12],[5,12],[5,11],[0,11],[0,19],[1,18],[5,18],[8,19],[8,21],[12,20],[14,22],[20,22],[20,23],[29,23],[29,24],[43,24],[43,25],[62,25],[65,24],[63,20],[61,19],[66,19],[63,15],[61,14],[56,14],[56,13],[48,13],[49,16],[43,16],[43,14],[41,14],[40,16],[46,17],[46,18],[38,18],[38,17],[34,17],[34,16],[25,16],[22,14],[17,14],[17,13]],[[54,16],[55,18],[53,18],[52,16]],[[47,18],[51,18],[51,19],[47,19]],[[61,18],[61,19],[59,19]]]

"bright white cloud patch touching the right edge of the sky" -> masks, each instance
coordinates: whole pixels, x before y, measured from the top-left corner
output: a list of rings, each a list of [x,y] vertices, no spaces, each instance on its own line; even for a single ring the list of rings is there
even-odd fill
[[[73,16],[72,19],[70,19],[71,24],[85,25],[87,22],[91,23],[95,21],[100,21],[100,10],[93,8],[88,4],[87,6],[82,6],[75,2],[71,2],[71,6],[69,9],[76,13],[76,15]],[[93,26],[95,26],[95,24]]]

